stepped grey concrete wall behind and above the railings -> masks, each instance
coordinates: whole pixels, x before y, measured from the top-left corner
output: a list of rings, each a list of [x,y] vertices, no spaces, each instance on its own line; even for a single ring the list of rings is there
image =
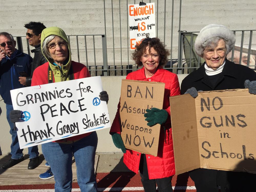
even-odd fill
[[[106,29],[104,28],[104,2]],[[113,10],[111,2],[113,2]],[[129,0],[128,4],[134,4],[134,2],[138,4],[140,1]],[[173,59],[177,59],[180,0],[174,0],[173,7],[172,1],[170,0],[166,1],[166,3],[164,0],[145,0],[144,2],[155,3],[156,9],[158,9],[155,13],[158,15],[158,21],[156,18],[158,27],[157,35],[163,41],[165,34],[165,45],[168,49],[171,47],[172,8],[174,9],[172,57]],[[166,8],[164,8],[165,4]],[[255,0],[182,0],[181,6],[180,30],[200,31],[204,26],[211,23],[223,24],[231,30],[256,29]],[[131,50],[127,50],[128,34],[126,12],[126,1],[120,1],[119,14],[119,0],[1,1],[0,31],[6,31],[14,36],[25,36],[26,29],[24,24],[29,21],[40,21],[47,27],[58,26],[62,28],[67,35],[105,34],[106,31],[108,64],[113,65],[115,61],[115,65],[120,65],[122,61],[123,65],[126,65],[128,59],[130,60],[130,64],[133,64]],[[165,19],[164,16],[166,16]],[[164,26],[166,27],[165,31]],[[249,42],[248,35],[248,32],[246,32],[244,44],[248,44]],[[241,42],[241,32],[237,32],[236,36],[236,43],[239,45]],[[70,41],[72,60],[78,61],[76,39],[71,38]],[[87,47],[88,64],[94,65],[92,37],[88,37],[87,41],[87,45],[91,45]],[[252,44],[254,46],[256,45],[255,35],[252,39]],[[23,45],[24,52],[27,53],[26,44],[24,43]],[[120,48],[122,48],[122,51]],[[31,46],[30,49],[32,49]],[[96,62],[98,65],[102,65],[101,37],[100,39],[98,37],[95,39],[95,49],[95,55],[97,56],[95,58]],[[86,55],[82,54],[84,51],[84,40],[79,39],[80,62],[86,64]]]

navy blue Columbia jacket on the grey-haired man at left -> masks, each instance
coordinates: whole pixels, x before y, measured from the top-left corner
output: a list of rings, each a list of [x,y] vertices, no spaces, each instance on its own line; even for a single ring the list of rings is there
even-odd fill
[[[12,104],[10,90],[23,88],[19,82],[19,72],[31,73],[32,58],[18,50],[13,59],[2,59],[0,62],[0,94],[6,104]]]

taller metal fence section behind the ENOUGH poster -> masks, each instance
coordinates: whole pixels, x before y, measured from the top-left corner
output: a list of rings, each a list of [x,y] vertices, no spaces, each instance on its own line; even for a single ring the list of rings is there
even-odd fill
[[[126,70],[136,70],[138,67],[135,65],[135,62],[131,59],[131,50],[130,50],[130,39],[129,39],[129,19],[128,19],[128,5],[129,4],[139,4],[141,0],[126,0],[118,1],[118,6],[116,2],[113,3],[111,0],[111,11],[106,13],[107,2],[110,0],[103,0],[104,3],[104,26],[106,37],[110,38],[108,41],[108,63],[109,66],[114,66],[114,69],[111,70],[123,70],[125,74]],[[156,15],[156,37],[160,38],[161,41],[166,45],[167,49],[170,51],[169,62],[167,63],[166,68],[169,70],[177,69],[177,57],[173,59],[173,31],[174,31],[174,0],[172,1],[158,1],[158,0],[146,0],[142,1],[144,3],[155,3],[155,15]],[[179,15],[181,15],[181,0],[179,1]],[[124,14],[125,13],[125,14]],[[125,15],[126,18],[123,17]],[[119,20],[115,22],[115,17]],[[166,20],[166,17],[171,18]],[[111,30],[107,31],[106,18],[111,20]],[[177,25],[177,24],[176,24]],[[179,30],[180,30],[180,17],[179,17]],[[168,30],[168,31],[167,31]],[[119,32],[119,33],[118,33]],[[166,33],[167,32],[167,33]],[[177,32],[176,32],[177,33]],[[116,44],[116,41],[119,41],[120,44]],[[177,42],[176,42],[177,44]],[[116,64],[118,63],[118,64]]]

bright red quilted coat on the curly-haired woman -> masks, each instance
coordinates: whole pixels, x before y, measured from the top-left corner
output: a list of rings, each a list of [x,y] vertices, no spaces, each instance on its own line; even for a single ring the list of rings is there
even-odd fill
[[[161,127],[159,135],[159,145],[157,156],[146,154],[148,176],[149,179],[159,179],[170,177],[175,174],[174,165],[174,153],[173,153],[173,140],[172,140],[172,128],[170,122],[170,102],[169,97],[180,94],[179,81],[176,74],[169,72],[165,69],[158,69],[156,73],[151,78],[146,78],[144,67],[140,70],[129,73],[126,79],[140,80],[140,81],[153,81],[165,83],[164,91],[164,102],[163,109],[165,109],[169,116],[165,123],[166,132],[166,142],[165,133]],[[120,102],[118,104],[118,110],[115,115],[115,119],[112,123],[110,132],[120,133]],[[139,164],[140,164],[141,153],[133,150],[126,149],[124,153],[124,164],[133,172],[138,174]]]

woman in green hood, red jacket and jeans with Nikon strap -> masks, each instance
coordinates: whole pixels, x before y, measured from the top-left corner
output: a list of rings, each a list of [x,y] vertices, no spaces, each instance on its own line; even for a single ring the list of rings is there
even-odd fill
[[[41,49],[48,62],[36,68],[31,86],[90,77],[86,66],[71,60],[68,38],[62,29],[44,29],[41,34]],[[100,99],[107,102],[108,94],[102,91]],[[42,152],[50,165],[46,174],[54,174],[56,192],[70,192],[72,189],[72,155],[76,160],[81,191],[97,191],[94,175],[97,142],[98,137],[94,131],[42,144]]]

